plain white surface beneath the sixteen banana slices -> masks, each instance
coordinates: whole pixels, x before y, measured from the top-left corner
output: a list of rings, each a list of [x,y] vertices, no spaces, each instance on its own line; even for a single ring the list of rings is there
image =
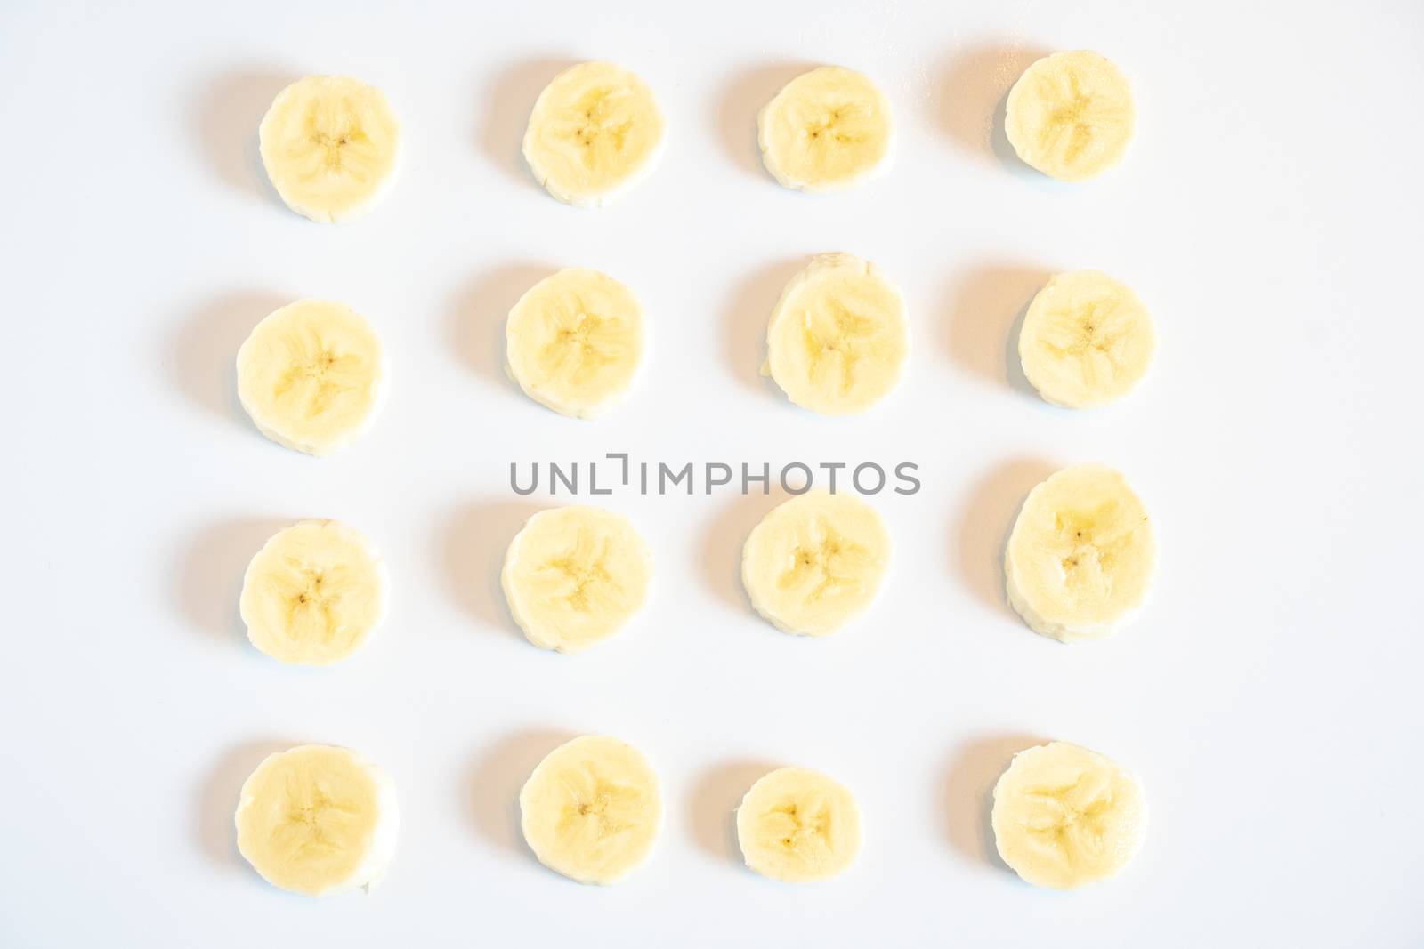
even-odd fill
[[[7,946],[1418,945],[1418,4],[77,4],[0,14],[9,430],[0,666]],[[1128,161],[1079,186],[1002,155],[990,120],[1034,55],[1089,47],[1134,81]],[[565,208],[517,158],[565,63],[639,71],[666,111],[656,174]],[[844,63],[889,94],[893,169],[839,196],[778,188],[752,148],[786,78]],[[255,128],[306,73],[383,87],[407,161],[350,226],[285,211]],[[909,377],[863,418],[756,377],[785,279],[820,250],[896,277]],[[500,371],[500,323],[557,266],[651,314],[646,371],[598,423]],[[1008,374],[1044,275],[1096,267],[1152,306],[1161,354],[1126,404],[1047,407]],[[384,334],[393,391],[329,460],[236,408],[251,326],[323,295]],[[916,461],[877,499],[896,562],[827,640],[748,610],[738,549],[770,501],[641,498],[656,553],[637,627],[570,657],[511,627],[496,565],[523,516],[510,461]],[[1118,639],[1064,647],[1004,606],[1000,545],[1055,467],[1122,468],[1161,582]],[[246,645],[236,595],[268,534],[335,516],[383,548],[379,640],[330,670]],[[561,737],[621,736],[668,821],[627,885],[578,886],[517,835]],[[1044,738],[1143,778],[1146,849],[1055,894],[991,855],[985,792]],[[397,781],[403,837],[372,896],[268,888],[236,857],[248,770],[299,741]],[[766,767],[860,795],[853,872],[792,888],[738,865],[731,810]]]

